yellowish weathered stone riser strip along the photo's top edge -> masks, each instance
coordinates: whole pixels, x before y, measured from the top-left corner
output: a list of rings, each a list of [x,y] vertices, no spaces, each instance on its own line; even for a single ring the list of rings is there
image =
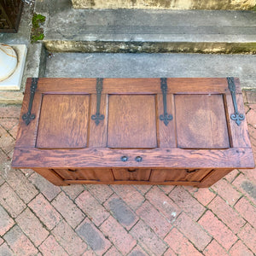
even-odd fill
[[[252,9],[255,0],[72,0],[75,9]]]

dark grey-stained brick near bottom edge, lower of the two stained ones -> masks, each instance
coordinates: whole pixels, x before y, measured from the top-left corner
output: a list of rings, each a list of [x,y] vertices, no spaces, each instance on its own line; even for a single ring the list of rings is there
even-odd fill
[[[103,236],[102,232],[96,229],[89,218],[85,218],[83,223],[76,229],[77,234],[90,246],[97,255],[102,255],[111,247],[110,241]],[[87,255],[89,252],[85,252]],[[90,254],[88,254],[90,255]]]

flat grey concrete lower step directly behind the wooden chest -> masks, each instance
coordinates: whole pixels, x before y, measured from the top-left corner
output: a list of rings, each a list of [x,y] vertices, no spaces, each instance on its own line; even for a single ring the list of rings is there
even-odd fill
[[[54,53],[45,77],[55,78],[223,78],[239,77],[256,90],[255,55]]]

